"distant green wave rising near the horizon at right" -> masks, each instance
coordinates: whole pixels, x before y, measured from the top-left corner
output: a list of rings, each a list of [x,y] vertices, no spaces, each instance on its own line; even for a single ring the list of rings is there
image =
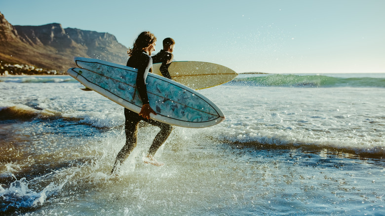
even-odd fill
[[[232,85],[264,87],[379,87],[385,88],[385,78],[334,77],[327,75],[270,74],[254,77],[238,77]]]

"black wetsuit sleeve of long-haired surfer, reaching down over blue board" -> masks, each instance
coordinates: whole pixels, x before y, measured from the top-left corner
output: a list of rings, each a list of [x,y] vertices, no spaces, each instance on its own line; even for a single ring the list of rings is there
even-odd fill
[[[147,96],[146,78],[153,65],[153,60],[150,56],[146,56],[143,59],[142,64],[138,67],[138,75],[136,77],[136,87],[138,88],[139,96],[142,99],[143,104],[149,104],[149,98]]]

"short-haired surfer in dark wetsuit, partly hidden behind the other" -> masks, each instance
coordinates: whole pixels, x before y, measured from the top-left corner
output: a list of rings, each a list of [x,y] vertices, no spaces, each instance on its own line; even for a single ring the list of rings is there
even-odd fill
[[[172,52],[174,51],[175,41],[174,39],[167,37],[163,40],[163,49],[160,50],[156,55],[152,56],[153,63],[162,63],[160,66],[160,72],[166,78],[171,79],[170,73],[168,72],[168,67],[172,60],[174,59],[174,55]]]

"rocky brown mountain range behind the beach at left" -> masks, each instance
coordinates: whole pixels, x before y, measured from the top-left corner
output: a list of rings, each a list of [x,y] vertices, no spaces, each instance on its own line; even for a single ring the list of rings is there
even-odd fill
[[[101,59],[125,65],[127,47],[109,33],[63,27],[12,26],[0,12],[0,61],[67,71],[76,67],[74,56]]]

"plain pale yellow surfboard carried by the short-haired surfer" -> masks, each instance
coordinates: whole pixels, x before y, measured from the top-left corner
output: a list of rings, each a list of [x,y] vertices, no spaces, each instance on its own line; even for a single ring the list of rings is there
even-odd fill
[[[161,63],[154,64],[154,73],[160,72]],[[208,62],[171,62],[168,72],[172,80],[192,89],[204,89],[221,85],[234,79],[238,73],[222,65]]]

